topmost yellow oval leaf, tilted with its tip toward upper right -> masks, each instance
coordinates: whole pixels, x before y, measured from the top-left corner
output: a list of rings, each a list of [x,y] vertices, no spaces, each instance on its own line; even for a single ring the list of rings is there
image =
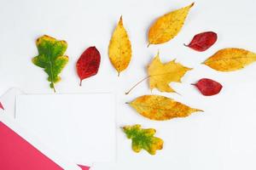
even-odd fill
[[[177,36],[193,5],[194,3],[191,3],[187,7],[179,8],[157,19],[148,31],[148,45],[168,42]]]

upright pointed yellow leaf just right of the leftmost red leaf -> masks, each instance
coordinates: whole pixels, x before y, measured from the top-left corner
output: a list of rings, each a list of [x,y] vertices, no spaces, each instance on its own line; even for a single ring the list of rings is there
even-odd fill
[[[124,71],[131,61],[131,42],[123,26],[122,16],[109,42],[108,56],[118,73]]]

